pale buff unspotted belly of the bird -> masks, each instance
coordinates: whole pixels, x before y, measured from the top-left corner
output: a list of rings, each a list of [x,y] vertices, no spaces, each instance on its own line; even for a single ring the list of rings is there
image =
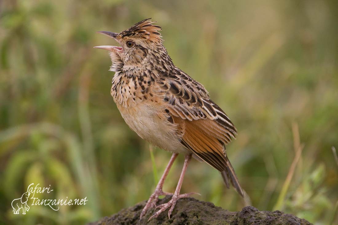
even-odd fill
[[[150,144],[172,153],[189,152],[179,142],[176,125],[163,119],[164,108],[155,110],[142,103],[128,109],[121,105],[117,107],[128,126]]]

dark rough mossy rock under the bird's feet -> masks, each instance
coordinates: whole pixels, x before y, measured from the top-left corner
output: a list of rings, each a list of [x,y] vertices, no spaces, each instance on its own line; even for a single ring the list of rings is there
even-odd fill
[[[168,202],[171,196],[159,200],[158,204]],[[148,210],[140,220],[141,211],[145,205],[140,202],[132,207],[122,209],[111,217],[104,217],[100,221],[89,225],[310,225],[305,219],[299,219],[291,214],[281,211],[259,211],[252,206],[246,206],[239,212],[231,212],[215,206],[211,202],[201,202],[194,198],[179,199],[175,209],[168,218],[168,210],[158,218],[148,218],[154,213],[154,209]]]

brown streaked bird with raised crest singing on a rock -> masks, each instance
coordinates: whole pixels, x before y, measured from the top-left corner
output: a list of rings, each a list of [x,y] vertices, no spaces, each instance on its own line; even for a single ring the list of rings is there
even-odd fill
[[[192,157],[218,170],[226,187],[230,188],[231,183],[244,196],[225,148],[236,139],[235,125],[201,83],[173,64],[163,45],[162,27],[155,22],[148,18],[119,33],[98,31],[120,46],[94,47],[110,55],[110,71],[115,72],[111,95],[126,124],[151,145],[172,154],[140,214],[141,219],[150,208],[159,208],[149,220],[167,209],[170,218],[178,199],[196,194],[180,194]],[[185,160],[175,192],[164,192],[164,181],[179,153],[185,154]],[[156,206],[160,195],[172,197]]]

